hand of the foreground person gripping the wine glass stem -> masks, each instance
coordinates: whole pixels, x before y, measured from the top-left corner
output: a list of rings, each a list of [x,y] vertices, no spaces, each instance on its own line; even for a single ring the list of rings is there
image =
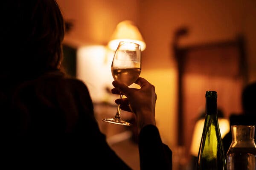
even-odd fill
[[[124,111],[133,112],[136,115],[138,129],[145,125],[155,125],[155,104],[157,95],[154,85],[151,85],[146,79],[139,77],[136,84],[140,89],[129,88],[122,82],[113,81],[113,94],[124,94],[127,98],[116,99],[116,104]]]

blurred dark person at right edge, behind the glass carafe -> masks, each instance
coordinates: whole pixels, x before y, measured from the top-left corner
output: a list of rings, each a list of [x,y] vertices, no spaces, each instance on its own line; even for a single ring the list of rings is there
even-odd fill
[[[251,82],[246,85],[242,91],[241,95],[241,105],[242,113],[232,113],[230,114],[230,127],[232,125],[255,125],[256,126],[256,82]],[[254,140],[256,140],[254,136]],[[227,151],[232,142],[231,128],[229,133],[227,133],[223,139],[224,152]]]

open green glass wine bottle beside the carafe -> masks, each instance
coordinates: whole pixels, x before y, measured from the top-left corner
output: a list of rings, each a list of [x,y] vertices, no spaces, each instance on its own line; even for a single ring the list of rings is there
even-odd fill
[[[227,170],[217,116],[217,92],[206,91],[204,129],[198,152],[197,170]]]

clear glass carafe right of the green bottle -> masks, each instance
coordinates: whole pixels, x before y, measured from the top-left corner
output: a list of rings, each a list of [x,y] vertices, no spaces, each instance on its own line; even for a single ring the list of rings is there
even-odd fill
[[[227,151],[227,170],[256,170],[255,126],[231,126],[232,143]]]

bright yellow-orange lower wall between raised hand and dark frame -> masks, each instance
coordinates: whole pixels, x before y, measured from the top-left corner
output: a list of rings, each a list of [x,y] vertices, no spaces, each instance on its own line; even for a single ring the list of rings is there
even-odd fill
[[[142,68],[140,77],[155,86],[157,94],[155,118],[163,142],[170,147],[177,145],[177,72],[174,68]],[[137,86],[137,87],[136,87]],[[134,84],[132,87],[139,88]]]

